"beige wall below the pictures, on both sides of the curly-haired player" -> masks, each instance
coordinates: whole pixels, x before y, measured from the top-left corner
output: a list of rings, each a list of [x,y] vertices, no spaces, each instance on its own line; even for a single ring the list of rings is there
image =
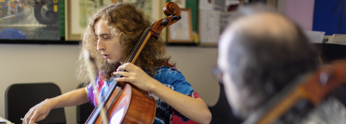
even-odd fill
[[[51,81],[63,94],[76,89],[78,51],[75,45],[0,44],[0,116],[5,117],[5,90],[13,83]],[[210,69],[216,66],[217,48],[170,46],[167,51],[207,105],[215,105],[219,85]],[[76,123],[75,106],[65,107],[65,114],[68,124]]]

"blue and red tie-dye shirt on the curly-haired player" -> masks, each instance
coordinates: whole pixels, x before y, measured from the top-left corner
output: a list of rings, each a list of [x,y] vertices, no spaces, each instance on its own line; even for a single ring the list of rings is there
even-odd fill
[[[156,70],[154,79],[158,80],[165,86],[177,92],[180,92],[181,94],[190,96],[192,98],[200,98],[198,94],[193,90],[191,84],[185,80],[183,74],[179,72],[176,68],[169,68],[165,66],[159,67]],[[102,80],[102,77],[98,77],[95,79],[95,82],[97,84],[96,88],[99,89],[100,96],[102,98],[102,96],[107,91],[110,83],[112,82],[112,78],[108,82],[106,82]],[[95,107],[97,105],[97,101],[94,98],[95,91],[92,84],[88,85],[88,92],[89,102]],[[151,92],[149,92],[149,96],[152,96],[156,100],[156,115],[154,124],[170,123],[174,116],[182,118],[183,121],[189,120],[189,118],[180,114],[177,110],[170,107],[166,102],[164,102]]]

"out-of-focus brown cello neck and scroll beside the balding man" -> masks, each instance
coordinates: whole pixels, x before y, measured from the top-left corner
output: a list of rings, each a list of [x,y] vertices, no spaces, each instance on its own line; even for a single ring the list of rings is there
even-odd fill
[[[298,77],[250,114],[243,124],[273,123],[296,106],[319,106],[334,89],[346,85],[345,75],[346,60],[335,60],[311,74]]]

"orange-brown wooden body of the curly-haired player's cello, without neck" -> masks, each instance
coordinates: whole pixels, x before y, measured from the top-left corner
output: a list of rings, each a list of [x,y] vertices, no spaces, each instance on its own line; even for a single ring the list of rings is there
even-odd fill
[[[115,90],[120,90],[120,87]],[[156,112],[155,99],[143,94],[129,83],[125,83],[122,90],[115,101],[117,104],[108,109],[107,118],[110,118],[108,123],[153,123]],[[112,94],[112,99],[116,98],[116,92],[118,91]],[[98,119],[95,123],[102,123],[102,119]]]

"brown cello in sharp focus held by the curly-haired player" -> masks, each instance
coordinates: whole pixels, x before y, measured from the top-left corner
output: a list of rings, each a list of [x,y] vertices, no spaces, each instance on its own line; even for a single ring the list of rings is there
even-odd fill
[[[156,21],[147,28],[137,44],[125,60],[134,64],[147,41],[153,37],[159,38],[162,29],[181,19],[179,6],[168,2],[163,8],[166,18]],[[86,63],[93,63],[90,56],[84,57]],[[91,70],[91,67],[88,67]],[[126,70],[121,70],[126,71]],[[91,72],[91,71],[89,71]],[[92,83],[95,76],[90,76]],[[116,75],[115,78],[120,78]],[[98,96],[96,98],[99,98]],[[106,94],[99,100],[97,107],[85,123],[153,123],[156,112],[156,101],[147,91],[141,90],[129,82],[114,81],[109,85]]]

